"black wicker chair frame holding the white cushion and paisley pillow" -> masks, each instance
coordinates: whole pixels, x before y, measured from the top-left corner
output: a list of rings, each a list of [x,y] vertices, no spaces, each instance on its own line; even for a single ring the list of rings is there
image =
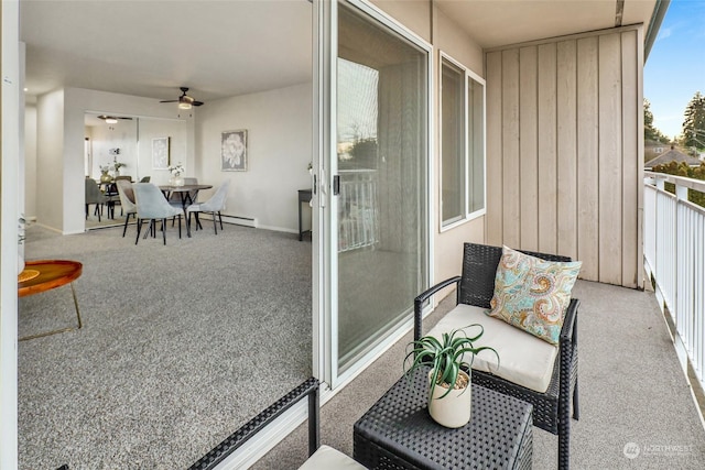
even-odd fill
[[[549,261],[571,261],[566,256],[524,251]],[[422,336],[422,310],[426,300],[444,287],[456,284],[457,303],[489,308],[495,291],[495,274],[502,254],[499,247],[465,243],[463,273],[431,287],[414,299],[414,339]],[[571,401],[573,418],[578,419],[577,397],[577,308],[579,300],[572,298],[565,313],[558,354],[551,383],[545,393],[539,393],[511,383],[491,373],[473,370],[473,383],[516,396],[533,405],[536,426],[558,436],[558,468],[570,466]],[[488,317],[488,320],[497,320]]]

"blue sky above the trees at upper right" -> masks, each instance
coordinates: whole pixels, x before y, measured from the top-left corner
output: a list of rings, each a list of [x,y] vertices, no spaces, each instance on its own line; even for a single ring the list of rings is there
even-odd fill
[[[705,0],[671,0],[643,70],[655,128],[680,135],[695,91],[705,95]]]

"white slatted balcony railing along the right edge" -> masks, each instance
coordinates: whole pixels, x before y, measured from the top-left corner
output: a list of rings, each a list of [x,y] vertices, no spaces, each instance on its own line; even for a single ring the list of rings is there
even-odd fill
[[[705,208],[687,200],[688,189],[705,193],[705,182],[644,172],[644,267],[675,326],[676,349],[705,385]]]

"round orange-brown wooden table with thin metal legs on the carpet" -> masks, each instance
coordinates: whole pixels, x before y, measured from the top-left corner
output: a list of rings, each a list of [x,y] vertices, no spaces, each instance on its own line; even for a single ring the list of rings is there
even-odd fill
[[[18,275],[18,297],[39,294],[68,284],[70,285],[70,292],[74,296],[74,306],[76,307],[78,327],[68,327],[25,336],[20,338],[20,341],[80,329],[83,324],[80,321],[80,311],[78,310],[78,300],[76,299],[76,291],[74,289],[73,282],[80,277],[82,273],[83,264],[77,261],[40,260],[28,261],[24,264],[24,271]]]

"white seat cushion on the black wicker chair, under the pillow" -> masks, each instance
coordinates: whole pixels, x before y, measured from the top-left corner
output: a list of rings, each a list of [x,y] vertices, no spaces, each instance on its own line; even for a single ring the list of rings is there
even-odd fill
[[[480,324],[485,328],[485,334],[475,342],[475,346],[495,348],[499,354],[500,367],[498,370],[497,357],[492,351],[481,351],[473,361],[473,369],[491,372],[536,392],[545,392],[551,383],[553,365],[558,352],[557,346],[498,318],[489,317],[485,311],[487,311],[486,308],[458,304],[429,331],[429,335],[441,338],[444,332]],[[477,328],[467,330],[468,336],[476,334]],[[464,360],[470,362],[469,359],[466,357]]]

